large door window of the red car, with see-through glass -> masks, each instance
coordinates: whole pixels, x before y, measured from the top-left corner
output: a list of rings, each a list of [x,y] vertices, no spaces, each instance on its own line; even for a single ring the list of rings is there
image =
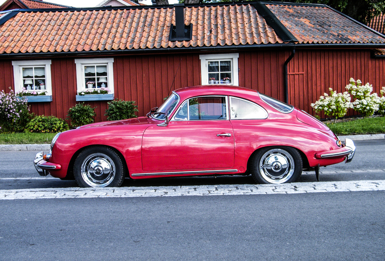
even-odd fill
[[[205,96],[189,99],[189,120],[227,119],[226,96]]]

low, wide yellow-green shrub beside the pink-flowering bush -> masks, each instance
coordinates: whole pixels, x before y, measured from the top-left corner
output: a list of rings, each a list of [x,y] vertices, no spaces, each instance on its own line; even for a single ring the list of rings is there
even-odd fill
[[[26,131],[28,132],[43,132],[54,133],[62,132],[69,129],[67,122],[55,116],[36,116],[28,122]]]

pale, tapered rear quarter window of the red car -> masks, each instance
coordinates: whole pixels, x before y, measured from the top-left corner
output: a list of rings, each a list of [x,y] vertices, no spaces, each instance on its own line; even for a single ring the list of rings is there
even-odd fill
[[[230,114],[232,120],[266,119],[268,115],[258,104],[235,97],[230,97]]]

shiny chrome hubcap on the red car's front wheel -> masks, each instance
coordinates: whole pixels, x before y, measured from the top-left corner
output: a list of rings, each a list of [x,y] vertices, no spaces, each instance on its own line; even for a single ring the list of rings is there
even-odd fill
[[[105,154],[91,154],[81,164],[81,176],[91,187],[105,187],[115,177],[115,164]]]

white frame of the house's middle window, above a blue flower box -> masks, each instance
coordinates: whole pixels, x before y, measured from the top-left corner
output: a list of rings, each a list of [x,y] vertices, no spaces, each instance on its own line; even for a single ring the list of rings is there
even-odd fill
[[[114,94],[114,58],[95,58],[95,59],[75,59],[77,92],[86,90],[84,81],[84,66],[107,65],[107,87],[110,89],[108,94]],[[97,89],[97,88],[96,88]],[[103,94],[101,94],[103,95]]]

